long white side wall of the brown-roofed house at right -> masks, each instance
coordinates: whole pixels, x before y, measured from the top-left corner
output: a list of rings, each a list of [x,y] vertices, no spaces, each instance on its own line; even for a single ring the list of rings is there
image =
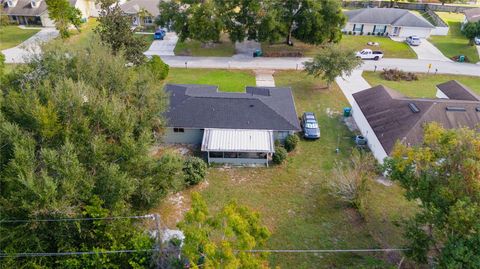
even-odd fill
[[[358,129],[362,133],[362,135],[367,138],[367,143],[368,147],[373,153],[373,156],[375,159],[380,164],[383,164],[383,159],[388,157],[387,153],[383,149],[382,144],[380,144],[380,141],[378,140],[377,136],[375,135],[375,132],[373,132],[372,127],[367,121],[367,118],[363,115],[362,110],[360,110],[360,107],[358,106],[357,102],[355,99],[353,99],[353,102],[351,102],[352,105],[352,116],[353,119],[355,120],[355,123],[357,124]]]

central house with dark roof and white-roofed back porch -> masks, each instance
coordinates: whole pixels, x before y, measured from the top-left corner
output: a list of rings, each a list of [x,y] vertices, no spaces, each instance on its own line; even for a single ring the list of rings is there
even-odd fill
[[[201,145],[208,162],[266,164],[274,141],[300,131],[290,88],[247,87],[243,93],[216,86],[169,84],[164,141]]]

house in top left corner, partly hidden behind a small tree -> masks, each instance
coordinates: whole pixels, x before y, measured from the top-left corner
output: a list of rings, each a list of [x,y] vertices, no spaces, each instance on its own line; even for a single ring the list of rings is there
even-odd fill
[[[87,20],[97,13],[93,0],[69,0],[70,4],[78,8],[82,19]],[[13,23],[20,25],[38,25],[54,27],[55,22],[48,16],[45,0],[4,0],[3,12]]]

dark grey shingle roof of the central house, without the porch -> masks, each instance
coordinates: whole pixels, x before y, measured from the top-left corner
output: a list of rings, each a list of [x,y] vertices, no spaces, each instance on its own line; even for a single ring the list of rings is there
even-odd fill
[[[208,85],[168,84],[169,127],[300,130],[289,88],[247,87],[245,93],[219,92]]]

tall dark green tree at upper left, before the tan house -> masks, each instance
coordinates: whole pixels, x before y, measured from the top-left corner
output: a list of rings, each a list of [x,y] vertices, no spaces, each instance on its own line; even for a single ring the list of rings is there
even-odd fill
[[[110,46],[114,55],[122,52],[127,61],[136,65],[143,63],[143,52],[147,49],[147,43],[130,29],[130,18],[124,15],[117,1],[99,2],[101,11],[95,32],[99,34],[101,41]]]

